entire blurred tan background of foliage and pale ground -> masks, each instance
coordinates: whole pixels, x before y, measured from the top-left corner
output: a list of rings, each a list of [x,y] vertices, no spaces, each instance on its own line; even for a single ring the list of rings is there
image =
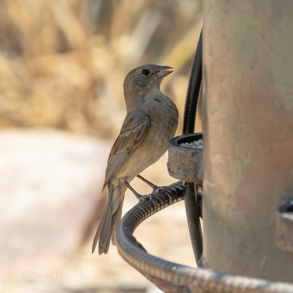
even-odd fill
[[[174,68],[161,90],[178,107],[181,134],[201,27],[198,0],[0,0],[0,292],[155,290],[115,247],[91,254],[107,197],[100,190],[131,69]],[[175,182],[167,160],[142,175]],[[150,192],[137,179],[132,185]],[[126,198],[123,213],[137,203]],[[135,236],[149,253],[195,266],[184,203]],[[66,273],[79,277],[58,280]]]

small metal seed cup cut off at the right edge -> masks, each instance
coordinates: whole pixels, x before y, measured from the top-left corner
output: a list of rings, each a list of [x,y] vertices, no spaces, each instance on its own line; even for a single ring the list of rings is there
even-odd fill
[[[276,211],[276,245],[293,252],[293,198],[287,197]]]

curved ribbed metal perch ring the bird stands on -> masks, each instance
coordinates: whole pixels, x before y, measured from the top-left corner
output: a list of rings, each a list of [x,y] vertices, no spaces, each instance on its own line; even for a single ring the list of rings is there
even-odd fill
[[[115,240],[119,254],[130,265],[161,290],[169,293],[293,293],[293,284],[224,274],[210,268],[196,269],[148,254],[133,237],[133,232],[151,215],[183,199],[182,182],[169,187],[172,190],[171,199],[161,192],[154,199],[155,202],[147,199],[139,202],[121,220],[115,232]],[[218,251],[218,254],[221,254],[221,251]],[[232,258],[231,255],[230,258]]]

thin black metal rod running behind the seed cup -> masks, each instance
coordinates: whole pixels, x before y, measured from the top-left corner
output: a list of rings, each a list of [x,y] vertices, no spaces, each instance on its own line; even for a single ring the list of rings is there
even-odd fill
[[[196,112],[201,85],[202,31],[198,40],[186,94],[182,134],[193,133],[195,130]],[[195,183],[186,182],[186,186],[184,188],[184,203],[193,254],[196,264],[199,266],[200,256],[202,255],[202,229],[198,212]]]

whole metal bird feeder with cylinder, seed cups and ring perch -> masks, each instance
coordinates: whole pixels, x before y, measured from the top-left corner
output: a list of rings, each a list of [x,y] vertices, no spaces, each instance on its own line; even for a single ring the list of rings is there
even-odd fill
[[[169,142],[169,174],[186,182],[138,203],[115,234],[120,255],[164,292],[293,292],[292,14],[289,0],[203,2],[183,135]],[[202,68],[203,150],[186,149],[202,135]],[[132,235],[179,200],[197,268],[148,254]]]

